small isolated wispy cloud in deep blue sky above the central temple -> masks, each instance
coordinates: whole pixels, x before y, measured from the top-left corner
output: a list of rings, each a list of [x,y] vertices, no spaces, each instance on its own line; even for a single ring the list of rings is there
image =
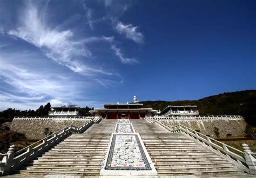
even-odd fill
[[[137,26],[132,26],[132,24],[125,25],[122,22],[118,22],[116,25],[116,30],[119,34],[124,34],[126,38],[132,39],[136,43],[143,43],[144,36],[137,31],[137,28]]]

